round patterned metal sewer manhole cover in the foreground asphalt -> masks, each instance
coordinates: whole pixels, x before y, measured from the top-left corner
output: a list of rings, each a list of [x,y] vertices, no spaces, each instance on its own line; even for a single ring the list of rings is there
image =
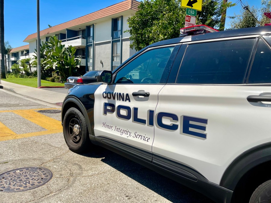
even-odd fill
[[[53,174],[46,168],[28,167],[10,170],[0,174],[0,191],[21,192],[47,183]]]

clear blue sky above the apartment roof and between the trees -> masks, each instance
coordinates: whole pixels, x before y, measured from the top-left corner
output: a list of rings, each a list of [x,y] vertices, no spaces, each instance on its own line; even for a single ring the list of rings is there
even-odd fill
[[[24,39],[33,33],[36,33],[36,0],[5,0],[4,1],[4,19],[5,19],[5,41],[15,48],[28,43]],[[98,11],[107,6],[121,2],[121,0],[40,0],[40,30],[60,23],[73,20],[86,14]],[[237,2],[237,0],[232,0]],[[261,0],[242,0],[245,4],[261,6]],[[240,3],[237,6],[227,10],[228,16],[239,14],[242,7]],[[226,27],[229,25],[229,19],[226,19]]]

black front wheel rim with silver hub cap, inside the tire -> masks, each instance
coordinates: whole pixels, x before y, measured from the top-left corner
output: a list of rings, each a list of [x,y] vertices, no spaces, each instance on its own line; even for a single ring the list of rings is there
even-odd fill
[[[67,135],[71,143],[77,145],[82,138],[81,124],[77,117],[71,117],[67,126]]]

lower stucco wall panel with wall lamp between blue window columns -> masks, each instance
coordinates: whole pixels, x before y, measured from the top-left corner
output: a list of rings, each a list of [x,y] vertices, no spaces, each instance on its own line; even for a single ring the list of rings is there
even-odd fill
[[[111,70],[111,43],[95,46],[95,70]]]

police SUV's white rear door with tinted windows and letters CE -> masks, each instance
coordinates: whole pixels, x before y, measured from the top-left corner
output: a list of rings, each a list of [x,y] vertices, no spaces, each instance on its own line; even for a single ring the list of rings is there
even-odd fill
[[[271,88],[260,85],[271,83],[270,48],[255,36],[220,40],[188,42],[177,55],[177,77],[159,92],[153,142],[154,164],[216,184],[236,157],[271,141]]]

